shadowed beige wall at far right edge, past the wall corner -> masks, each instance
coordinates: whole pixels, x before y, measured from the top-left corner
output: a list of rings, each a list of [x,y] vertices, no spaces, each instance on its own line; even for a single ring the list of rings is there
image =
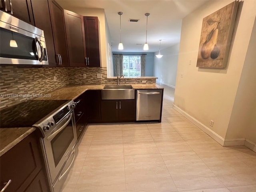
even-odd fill
[[[250,38],[226,139],[246,138],[256,143],[256,19]]]

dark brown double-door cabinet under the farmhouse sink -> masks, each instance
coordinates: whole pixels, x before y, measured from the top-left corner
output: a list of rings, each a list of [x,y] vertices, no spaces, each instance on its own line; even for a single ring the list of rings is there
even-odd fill
[[[135,100],[101,100],[103,123],[134,122]]]

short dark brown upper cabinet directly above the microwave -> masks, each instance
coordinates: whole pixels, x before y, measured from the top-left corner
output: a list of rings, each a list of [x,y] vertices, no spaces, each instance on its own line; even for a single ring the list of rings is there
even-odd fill
[[[30,0],[1,0],[0,9],[24,22],[35,25]]]

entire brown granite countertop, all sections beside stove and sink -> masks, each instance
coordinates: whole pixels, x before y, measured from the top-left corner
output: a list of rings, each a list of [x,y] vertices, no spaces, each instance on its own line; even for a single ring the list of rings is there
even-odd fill
[[[132,88],[136,89],[164,89],[157,84],[131,84]],[[86,90],[102,90],[105,84],[98,85],[80,85],[80,86],[65,86],[49,92],[49,97],[39,97],[36,100],[74,100]],[[36,128],[0,128],[0,156],[18,144],[26,136],[32,133]]]

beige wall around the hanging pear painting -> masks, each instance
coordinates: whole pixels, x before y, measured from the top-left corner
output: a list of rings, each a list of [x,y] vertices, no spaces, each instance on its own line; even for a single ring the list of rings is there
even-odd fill
[[[230,58],[224,69],[197,68],[196,60],[204,17],[233,2],[208,1],[182,20],[174,105],[221,138],[226,137],[240,76],[252,34],[256,1],[244,0]],[[189,61],[192,64],[189,65]],[[183,78],[180,77],[183,73]],[[254,83],[254,86],[256,84]],[[214,126],[209,126],[214,120]]]

